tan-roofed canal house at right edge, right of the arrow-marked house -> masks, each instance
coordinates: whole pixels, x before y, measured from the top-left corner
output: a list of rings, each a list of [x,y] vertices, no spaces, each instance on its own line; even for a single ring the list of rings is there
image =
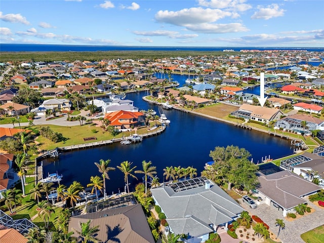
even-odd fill
[[[306,127],[302,126],[306,121]],[[299,134],[310,134],[314,130],[324,131],[324,120],[307,114],[289,115],[276,121],[274,129],[291,130]]]

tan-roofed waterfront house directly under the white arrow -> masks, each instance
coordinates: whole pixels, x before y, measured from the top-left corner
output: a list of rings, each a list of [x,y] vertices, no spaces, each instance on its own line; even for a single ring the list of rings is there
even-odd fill
[[[278,109],[249,104],[242,104],[238,110],[231,112],[232,116],[245,118],[246,120],[251,119],[264,124],[279,119],[282,114],[284,113]]]

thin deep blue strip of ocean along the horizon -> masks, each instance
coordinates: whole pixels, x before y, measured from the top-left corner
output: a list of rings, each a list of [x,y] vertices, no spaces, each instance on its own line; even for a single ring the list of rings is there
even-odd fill
[[[223,50],[283,50],[324,52],[324,47],[151,47],[151,46],[94,46],[48,44],[0,44],[1,52],[98,52],[98,51],[207,51]]]

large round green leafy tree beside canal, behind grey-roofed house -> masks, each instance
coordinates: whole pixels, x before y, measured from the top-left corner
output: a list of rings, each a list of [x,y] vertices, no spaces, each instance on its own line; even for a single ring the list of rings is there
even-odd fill
[[[239,189],[252,190],[258,184],[256,172],[258,167],[251,163],[249,157],[251,153],[245,148],[237,146],[215,147],[210,152],[210,156],[214,160],[211,166],[212,171],[217,174],[217,178],[221,178],[223,182],[228,183],[228,190],[232,186]],[[206,169],[208,170],[208,169]],[[210,173],[202,174],[208,175]],[[208,178],[213,180],[215,176]]]

